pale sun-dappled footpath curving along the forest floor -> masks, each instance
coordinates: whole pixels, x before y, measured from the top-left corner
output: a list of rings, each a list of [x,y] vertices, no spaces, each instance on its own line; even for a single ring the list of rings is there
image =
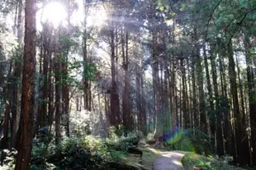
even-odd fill
[[[163,152],[154,161],[153,170],[183,170],[181,161],[184,154],[186,152],[183,151]]]

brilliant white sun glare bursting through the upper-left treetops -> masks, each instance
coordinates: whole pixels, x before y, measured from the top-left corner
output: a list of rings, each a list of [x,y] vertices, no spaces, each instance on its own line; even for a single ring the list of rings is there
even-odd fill
[[[67,18],[67,11],[61,2],[49,2],[45,7],[41,7],[37,12],[37,21],[49,21],[57,27],[60,23],[64,23]]]

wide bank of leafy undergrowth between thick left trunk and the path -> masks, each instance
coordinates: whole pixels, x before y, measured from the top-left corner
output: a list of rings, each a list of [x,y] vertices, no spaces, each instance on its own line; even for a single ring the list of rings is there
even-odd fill
[[[47,152],[45,152],[45,141],[34,140],[31,169],[102,168],[106,163],[121,162],[126,159],[127,149],[137,136],[138,133],[134,132],[126,137],[111,136],[107,140],[97,136],[63,138],[57,146],[51,141]]]

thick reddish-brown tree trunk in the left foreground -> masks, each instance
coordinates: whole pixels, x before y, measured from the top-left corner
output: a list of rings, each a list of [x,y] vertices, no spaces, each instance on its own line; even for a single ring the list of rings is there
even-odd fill
[[[16,170],[29,169],[33,137],[36,73],[36,1],[26,0],[25,49],[21,93],[20,139]]]

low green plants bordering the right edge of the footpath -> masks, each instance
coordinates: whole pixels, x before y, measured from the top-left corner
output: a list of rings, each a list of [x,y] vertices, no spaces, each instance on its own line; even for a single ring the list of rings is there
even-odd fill
[[[199,154],[188,153],[183,157],[182,163],[185,170],[193,169],[193,167],[201,168],[204,170],[243,170],[229,165],[230,157],[226,156],[222,159],[213,156],[205,157]]]

